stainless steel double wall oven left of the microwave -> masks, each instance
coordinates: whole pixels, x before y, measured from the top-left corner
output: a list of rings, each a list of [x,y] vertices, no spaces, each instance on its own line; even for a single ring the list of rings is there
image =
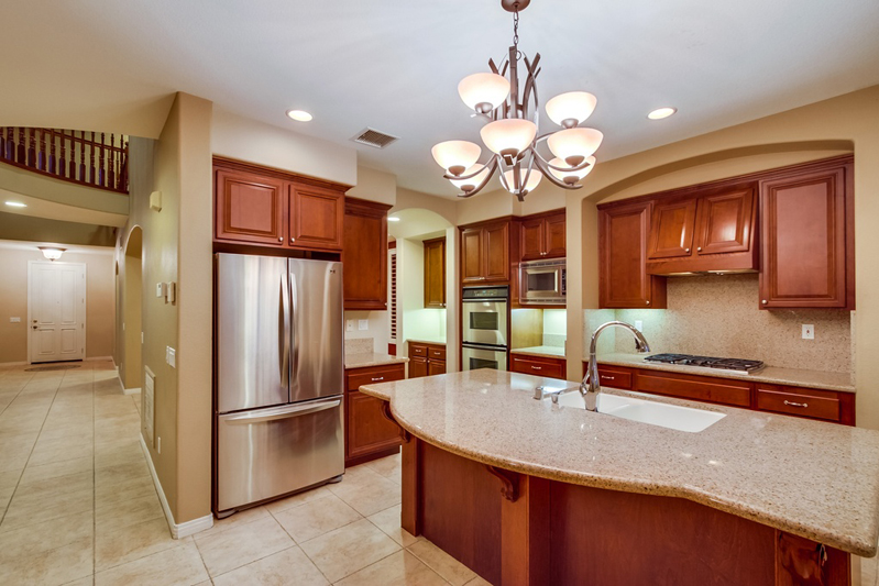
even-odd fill
[[[461,320],[462,369],[506,371],[509,287],[464,287]]]

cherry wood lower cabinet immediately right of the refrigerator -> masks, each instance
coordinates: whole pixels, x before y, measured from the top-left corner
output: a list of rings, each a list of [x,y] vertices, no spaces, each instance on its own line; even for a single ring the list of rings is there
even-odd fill
[[[404,365],[391,364],[345,371],[345,466],[399,451],[400,429],[382,413],[382,400],[360,392],[362,385],[406,378]]]

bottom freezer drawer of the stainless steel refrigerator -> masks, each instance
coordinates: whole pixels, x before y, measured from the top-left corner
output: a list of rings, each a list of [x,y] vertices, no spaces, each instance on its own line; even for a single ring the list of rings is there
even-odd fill
[[[217,427],[218,512],[344,472],[341,396],[222,414]]]

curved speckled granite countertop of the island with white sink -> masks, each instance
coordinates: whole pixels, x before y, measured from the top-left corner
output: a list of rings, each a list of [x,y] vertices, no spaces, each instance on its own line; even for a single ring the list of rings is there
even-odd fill
[[[365,385],[399,424],[461,456],[565,483],[680,497],[871,557],[879,432],[636,394],[723,412],[700,433],[532,398],[575,386],[491,369]],[[605,389],[616,395],[633,394]]]

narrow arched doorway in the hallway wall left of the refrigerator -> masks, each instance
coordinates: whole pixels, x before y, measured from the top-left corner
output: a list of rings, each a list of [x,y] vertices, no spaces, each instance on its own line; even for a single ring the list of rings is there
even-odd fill
[[[124,358],[122,383],[125,392],[136,392],[143,378],[142,303],[143,303],[143,231],[134,226],[125,244],[122,324]]]

